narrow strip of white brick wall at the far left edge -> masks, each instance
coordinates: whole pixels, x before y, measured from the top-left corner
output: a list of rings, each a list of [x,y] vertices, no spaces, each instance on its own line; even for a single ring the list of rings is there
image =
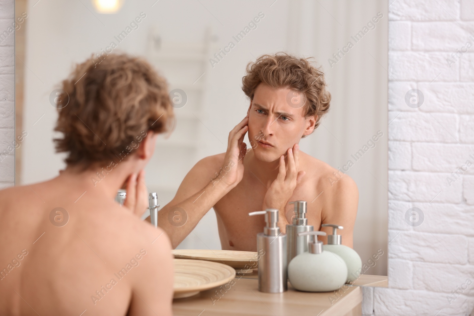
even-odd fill
[[[14,1],[0,0],[0,33],[14,21]],[[15,140],[15,33],[0,43],[0,152]],[[15,184],[15,156],[0,158],[0,189]]]

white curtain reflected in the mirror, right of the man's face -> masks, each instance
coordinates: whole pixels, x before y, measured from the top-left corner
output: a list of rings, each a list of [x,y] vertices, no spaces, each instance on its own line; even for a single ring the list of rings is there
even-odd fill
[[[384,255],[366,273],[387,275],[387,3],[301,0],[292,1],[289,9],[288,49],[315,57],[332,95],[328,115],[313,135],[301,141],[301,149],[335,168],[349,160],[354,163],[347,172],[359,189],[354,249],[363,262],[382,249]],[[367,27],[377,12],[383,17]],[[356,37],[367,29],[362,38]],[[343,51],[349,41],[353,47],[335,59],[333,54]],[[329,63],[329,58],[336,63]],[[378,131],[383,136],[375,147],[356,161],[351,155]]]

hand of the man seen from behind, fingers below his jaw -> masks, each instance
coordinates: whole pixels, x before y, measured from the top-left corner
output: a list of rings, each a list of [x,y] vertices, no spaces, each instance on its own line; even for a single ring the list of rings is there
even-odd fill
[[[133,172],[126,181],[127,197],[123,206],[132,213],[141,217],[148,208],[148,190],[145,184],[145,170],[141,170],[137,175]]]

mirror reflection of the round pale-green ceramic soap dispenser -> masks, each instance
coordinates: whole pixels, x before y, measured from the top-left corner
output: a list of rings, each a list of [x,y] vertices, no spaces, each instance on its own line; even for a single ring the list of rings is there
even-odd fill
[[[347,265],[346,282],[357,280],[362,271],[362,260],[354,249],[341,244],[342,236],[337,235],[337,229],[344,229],[344,227],[333,224],[323,224],[321,227],[332,227],[332,235],[328,235],[328,244],[324,245],[324,250],[337,253],[342,259],[344,259]]]

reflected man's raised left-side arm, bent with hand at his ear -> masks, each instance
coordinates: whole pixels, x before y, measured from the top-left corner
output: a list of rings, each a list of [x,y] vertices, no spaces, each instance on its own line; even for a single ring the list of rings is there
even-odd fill
[[[210,208],[242,180],[247,124],[248,116],[230,131],[220,169],[218,156],[196,163],[184,177],[173,200],[158,212],[158,225],[168,234],[173,249],[191,233]]]

